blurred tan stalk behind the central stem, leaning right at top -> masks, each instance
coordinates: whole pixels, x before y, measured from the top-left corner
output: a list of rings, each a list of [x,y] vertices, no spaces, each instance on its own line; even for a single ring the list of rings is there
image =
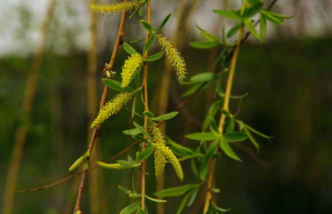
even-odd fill
[[[191,18],[191,15],[195,11],[200,0],[193,0],[193,3],[188,4],[188,0],[180,0],[176,15],[176,26],[173,35],[171,36],[171,41],[174,46],[181,50],[182,44],[181,40],[184,40],[184,37],[187,34],[187,20]],[[172,73],[172,65],[169,63],[167,58],[165,58],[164,62],[164,72],[160,79],[160,89],[159,89],[159,103],[158,103],[158,114],[163,115],[167,113],[167,107],[169,104],[169,91],[170,91],[170,83],[171,83],[171,73]],[[164,134],[166,131],[166,123],[159,125],[160,130]],[[156,191],[161,191],[164,189],[164,174],[160,175],[156,181]],[[164,214],[164,203],[157,203],[156,209],[157,214]]]

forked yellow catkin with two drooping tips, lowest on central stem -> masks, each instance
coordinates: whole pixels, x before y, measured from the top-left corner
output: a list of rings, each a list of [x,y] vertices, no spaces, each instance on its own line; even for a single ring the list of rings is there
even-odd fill
[[[165,139],[159,128],[157,128],[156,123],[152,122],[150,130],[153,135],[153,141],[155,142],[155,153],[154,153],[154,164],[155,164],[155,174],[158,177],[161,175],[165,168],[166,159],[172,164],[176,175],[182,181],[183,171],[178,158],[174,155],[172,150],[165,146]]]

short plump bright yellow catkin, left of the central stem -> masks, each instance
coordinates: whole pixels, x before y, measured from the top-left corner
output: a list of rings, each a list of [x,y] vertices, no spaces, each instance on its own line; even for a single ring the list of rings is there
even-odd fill
[[[122,66],[122,88],[126,88],[132,76],[134,75],[136,69],[139,67],[140,63],[143,61],[142,56],[140,56],[139,53],[135,53],[128,57],[128,59],[125,61],[124,65]]]

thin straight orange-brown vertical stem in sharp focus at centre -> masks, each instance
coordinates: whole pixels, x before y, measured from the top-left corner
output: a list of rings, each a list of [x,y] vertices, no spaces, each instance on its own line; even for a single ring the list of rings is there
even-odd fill
[[[148,2],[148,23],[151,23],[151,0]],[[145,42],[148,42],[150,37],[149,31],[147,31]],[[147,58],[149,56],[148,50],[145,52],[144,57]],[[144,74],[143,74],[143,88],[144,88],[144,110],[149,111],[149,102],[148,102],[148,63],[144,64]],[[148,131],[148,117],[144,116],[144,129]],[[142,151],[146,148],[146,143],[143,142]],[[141,178],[141,208],[145,210],[145,159],[142,161],[142,178]]]

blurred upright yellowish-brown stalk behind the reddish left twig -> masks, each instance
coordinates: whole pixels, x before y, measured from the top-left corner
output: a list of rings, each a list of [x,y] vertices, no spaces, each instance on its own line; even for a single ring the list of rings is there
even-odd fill
[[[91,1],[95,3],[96,1]],[[88,51],[88,70],[86,76],[86,101],[87,101],[87,145],[89,145],[91,139],[90,125],[93,122],[94,117],[97,115],[97,46],[98,46],[98,31],[97,31],[97,16],[90,11],[90,47]],[[93,152],[90,156],[90,162],[96,163],[98,159],[101,159],[101,146],[96,144]],[[104,198],[102,194],[101,186],[103,186],[103,171],[94,170],[89,173],[89,200],[90,200],[90,213],[102,213],[107,210],[106,204],[103,204]]]

